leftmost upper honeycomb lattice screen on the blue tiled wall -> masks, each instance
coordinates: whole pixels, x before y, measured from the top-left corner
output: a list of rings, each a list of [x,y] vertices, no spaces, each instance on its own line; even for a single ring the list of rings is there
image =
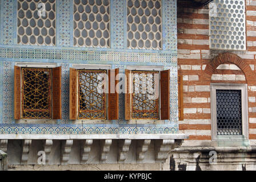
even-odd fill
[[[55,0],[18,0],[17,43],[55,46]]]

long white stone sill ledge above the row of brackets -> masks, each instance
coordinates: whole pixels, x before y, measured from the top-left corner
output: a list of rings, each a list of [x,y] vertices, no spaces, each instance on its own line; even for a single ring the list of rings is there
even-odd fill
[[[186,134],[79,134],[79,135],[54,135],[54,134],[0,134],[0,139],[187,139]]]

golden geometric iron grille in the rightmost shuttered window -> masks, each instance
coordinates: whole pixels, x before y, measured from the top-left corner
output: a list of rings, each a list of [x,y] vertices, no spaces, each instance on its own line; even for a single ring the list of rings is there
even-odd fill
[[[132,119],[159,119],[159,72],[132,71]]]

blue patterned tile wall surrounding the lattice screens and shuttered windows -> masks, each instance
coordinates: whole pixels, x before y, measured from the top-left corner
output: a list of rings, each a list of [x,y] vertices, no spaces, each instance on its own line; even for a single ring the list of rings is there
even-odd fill
[[[0,0],[0,134],[158,134],[178,132],[176,0],[162,0],[163,49],[126,49],[126,1],[111,0],[110,48],[73,47],[73,1],[56,0],[56,45],[17,45],[17,1]],[[18,124],[14,120],[16,61],[57,63],[62,66],[62,119],[57,124]],[[170,121],[127,124],[124,96],[119,96],[119,120],[111,124],[74,124],[69,120],[69,68],[73,63],[111,64],[123,73],[126,65],[163,65],[170,69]]]

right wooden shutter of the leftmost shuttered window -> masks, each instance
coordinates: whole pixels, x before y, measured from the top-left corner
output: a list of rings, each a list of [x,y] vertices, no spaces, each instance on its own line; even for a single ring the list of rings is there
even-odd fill
[[[52,68],[53,119],[61,119],[61,67]]]

